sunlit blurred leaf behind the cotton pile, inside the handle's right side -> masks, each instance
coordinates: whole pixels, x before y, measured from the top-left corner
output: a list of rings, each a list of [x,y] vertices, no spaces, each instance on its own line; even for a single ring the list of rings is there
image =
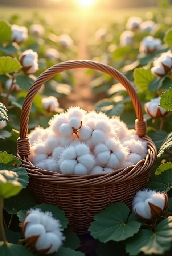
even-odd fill
[[[103,99],[102,101],[98,101],[94,108],[95,111],[101,111],[112,117],[113,115],[120,115],[123,112],[124,104],[122,102],[114,102],[111,99]]]

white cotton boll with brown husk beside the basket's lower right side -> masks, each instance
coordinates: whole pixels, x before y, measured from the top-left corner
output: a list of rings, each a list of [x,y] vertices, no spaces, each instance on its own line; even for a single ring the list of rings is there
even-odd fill
[[[133,200],[133,211],[144,220],[157,218],[167,208],[168,196],[165,192],[144,189],[138,191]]]

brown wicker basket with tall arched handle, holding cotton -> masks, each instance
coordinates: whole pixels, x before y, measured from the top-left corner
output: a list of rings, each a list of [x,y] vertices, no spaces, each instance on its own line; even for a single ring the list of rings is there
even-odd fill
[[[127,89],[136,112],[135,129],[148,144],[146,159],[135,166],[116,170],[108,174],[63,175],[41,170],[29,161],[30,142],[27,137],[30,107],[41,85],[55,74],[73,68],[91,68],[110,74]],[[88,60],[66,61],[45,70],[30,87],[20,117],[20,138],[17,140],[17,156],[29,174],[28,188],[36,196],[37,203],[59,206],[69,218],[69,227],[77,233],[86,233],[94,215],[114,202],[124,202],[129,207],[136,191],[148,182],[149,170],[156,160],[156,147],[146,135],[146,121],[142,105],[126,77],[111,66]]]

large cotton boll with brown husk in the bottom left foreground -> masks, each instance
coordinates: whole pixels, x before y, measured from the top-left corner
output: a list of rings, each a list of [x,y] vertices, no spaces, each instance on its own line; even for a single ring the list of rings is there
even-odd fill
[[[30,209],[20,227],[26,247],[34,253],[52,254],[57,252],[65,241],[60,220],[55,219],[48,211]]]

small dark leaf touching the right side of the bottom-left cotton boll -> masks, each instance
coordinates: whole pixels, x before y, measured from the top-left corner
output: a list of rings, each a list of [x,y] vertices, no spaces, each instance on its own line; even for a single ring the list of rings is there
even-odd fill
[[[63,233],[66,237],[63,246],[74,250],[78,249],[80,246],[80,240],[77,234],[70,228],[65,228]]]

